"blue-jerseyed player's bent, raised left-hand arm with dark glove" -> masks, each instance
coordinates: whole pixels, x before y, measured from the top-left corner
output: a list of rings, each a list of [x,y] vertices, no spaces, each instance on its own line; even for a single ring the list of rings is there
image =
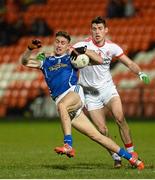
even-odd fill
[[[41,47],[40,40],[32,40],[32,42],[28,45],[27,50],[24,52],[24,54],[21,57],[21,63],[27,67],[39,68],[41,62],[38,61],[38,59],[36,58],[31,58],[31,55],[34,49],[38,49],[40,47]]]

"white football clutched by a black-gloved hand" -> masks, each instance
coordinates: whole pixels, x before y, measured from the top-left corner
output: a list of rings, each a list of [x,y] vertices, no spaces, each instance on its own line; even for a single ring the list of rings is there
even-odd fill
[[[89,64],[89,57],[86,54],[80,54],[75,60],[72,60],[75,68],[84,68]]]

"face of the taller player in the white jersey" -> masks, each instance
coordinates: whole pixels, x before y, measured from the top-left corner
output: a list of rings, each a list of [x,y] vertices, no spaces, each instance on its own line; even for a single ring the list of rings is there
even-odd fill
[[[99,45],[103,45],[104,41],[105,41],[105,36],[108,32],[108,28],[104,26],[104,24],[100,23],[100,24],[92,24],[91,27],[91,32],[92,32],[92,37],[93,40],[99,44]]]

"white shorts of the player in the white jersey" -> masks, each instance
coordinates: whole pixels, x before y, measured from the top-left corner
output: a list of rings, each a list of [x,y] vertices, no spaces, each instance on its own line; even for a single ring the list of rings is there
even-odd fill
[[[103,108],[114,96],[119,96],[116,86],[109,85],[99,90],[98,95],[85,94],[85,107],[88,111]]]

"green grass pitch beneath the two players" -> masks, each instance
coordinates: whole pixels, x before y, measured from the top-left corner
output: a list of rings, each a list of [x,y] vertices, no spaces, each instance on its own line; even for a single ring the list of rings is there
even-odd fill
[[[113,168],[107,151],[73,130],[75,158],[57,155],[53,149],[63,143],[59,121],[0,122],[1,179],[154,179],[155,122],[130,121],[136,150],[146,168],[138,171],[123,160],[121,169]],[[115,141],[123,146],[115,123],[108,127]]]

